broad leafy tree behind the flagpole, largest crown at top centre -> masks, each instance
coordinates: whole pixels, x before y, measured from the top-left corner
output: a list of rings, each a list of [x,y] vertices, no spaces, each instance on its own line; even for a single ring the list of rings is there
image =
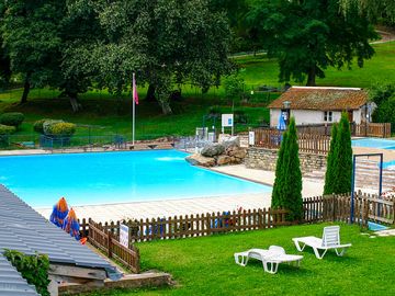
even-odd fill
[[[68,9],[82,27],[97,30],[70,43],[66,72],[79,69],[99,87],[120,93],[135,71],[165,114],[171,113],[174,84],[188,81],[207,91],[230,69],[227,19],[211,11],[207,0],[77,0]]]

